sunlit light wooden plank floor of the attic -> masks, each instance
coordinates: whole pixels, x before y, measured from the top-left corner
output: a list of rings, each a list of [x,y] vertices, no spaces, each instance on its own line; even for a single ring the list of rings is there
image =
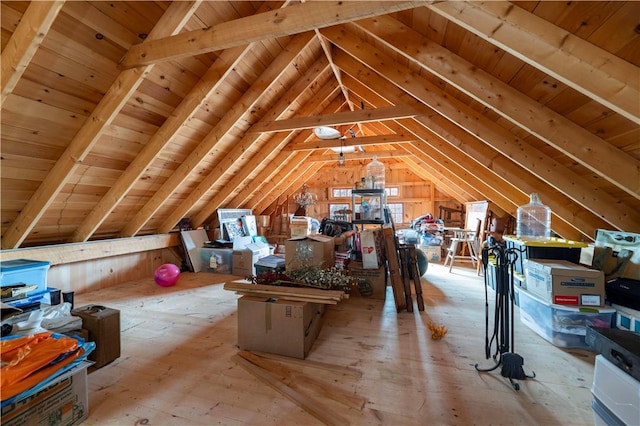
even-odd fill
[[[76,306],[121,313],[122,354],[89,374],[86,425],[312,425],[307,411],[233,362],[238,352],[237,277],[183,273],[162,288],[148,280],[76,295]],[[595,354],[557,348],[515,321],[515,352],[533,380],[515,391],[484,357],[485,292],[475,270],[430,264],[426,311],[396,313],[386,301],[352,297],[325,312],[308,360],[348,366],[360,378],[305,369],[308,376],[366,399],[362,410],[318,396],[351,424],[588,425]],[[493,290],[489,289],[490,300]],[[431,340],[430,322],[445,325]]]

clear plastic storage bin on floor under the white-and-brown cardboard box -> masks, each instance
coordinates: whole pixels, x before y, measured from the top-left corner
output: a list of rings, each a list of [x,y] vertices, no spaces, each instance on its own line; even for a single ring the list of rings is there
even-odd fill
[[[577,307],[544,302],[522,288],[515,288],[520,321],[548,342],[563,348],[591,349],[587,326],[610,328],[616,310],[608,307]]]

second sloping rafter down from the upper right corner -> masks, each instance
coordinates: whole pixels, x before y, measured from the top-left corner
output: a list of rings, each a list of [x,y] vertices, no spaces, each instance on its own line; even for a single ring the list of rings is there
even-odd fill
[[[375,21],[360,22],[358,27],[409,61],[640,198],[640,164],[629,154],[448,49],[425,41],[421,34],[394,18],[380,16]],[[571,74],[577,73],[572,70]],[[636,77],[640,81],[640,68],[636,68]],[[640,94],[637,95],[635,104],[640,107]],[[576,144],[577,140],[581,143]]]

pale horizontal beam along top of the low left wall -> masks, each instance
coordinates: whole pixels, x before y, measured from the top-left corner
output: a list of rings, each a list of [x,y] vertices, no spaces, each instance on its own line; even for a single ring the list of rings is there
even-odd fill
[[[3,261],[15,259],[41,260],[51,262],[53,266],[121,256],[130,253],[140,253],[143,251],[160,250],[179,246],[180,244],[178,234],[149,235],[144,237],[116,238],[113,240],[2,250],[0,251],[0,258]]]

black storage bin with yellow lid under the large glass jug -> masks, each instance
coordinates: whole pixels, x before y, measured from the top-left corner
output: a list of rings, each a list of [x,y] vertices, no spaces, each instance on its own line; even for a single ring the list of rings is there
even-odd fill
[[[585,243],[554,237],[548,240],[529,240],[505,235],[503,239],[507,248],[520,250],[514,264],[514,269],[520,274],[524,274],[525,259],[559,259],[580,263],[580,252],[588,247]]]

